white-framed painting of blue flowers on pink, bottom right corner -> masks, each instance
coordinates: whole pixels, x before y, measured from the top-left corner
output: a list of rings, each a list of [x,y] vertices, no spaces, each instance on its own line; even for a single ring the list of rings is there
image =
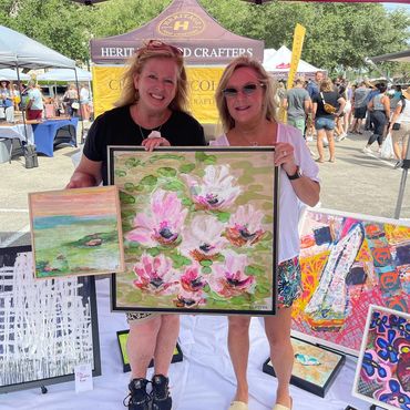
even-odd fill
[[[382,409],[410,409],[410,315],[370,305],[352,394]]]

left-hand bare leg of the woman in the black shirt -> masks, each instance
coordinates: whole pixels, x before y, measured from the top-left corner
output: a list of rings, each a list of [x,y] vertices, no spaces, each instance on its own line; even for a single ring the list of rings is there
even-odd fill
[[[161,316],[144,321],[131,321],[126,351],[132,379],[146,378],[146,369],[154,357],[155,340],[161,327]]]

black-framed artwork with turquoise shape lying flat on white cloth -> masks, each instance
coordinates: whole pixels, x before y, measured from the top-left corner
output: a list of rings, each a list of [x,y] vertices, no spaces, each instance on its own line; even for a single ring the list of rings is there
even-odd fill
[[[295,352],[290,383],[316,396],[325,397],[344,365],[345,355],[291,337]],[[270,359],[264,362],[263,371],[275,376]]]

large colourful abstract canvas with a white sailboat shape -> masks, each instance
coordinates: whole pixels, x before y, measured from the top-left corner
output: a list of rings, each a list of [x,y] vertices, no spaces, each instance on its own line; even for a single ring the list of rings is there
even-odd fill
[[[293,330],[358,355],[369,305],[410,307],[410,224],[308,211]]]

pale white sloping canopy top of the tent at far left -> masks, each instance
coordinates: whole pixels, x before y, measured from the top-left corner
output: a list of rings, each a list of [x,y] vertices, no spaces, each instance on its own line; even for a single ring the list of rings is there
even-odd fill
[[[4,25],[0,25],[0,68],[74,69],[75,62]]]

